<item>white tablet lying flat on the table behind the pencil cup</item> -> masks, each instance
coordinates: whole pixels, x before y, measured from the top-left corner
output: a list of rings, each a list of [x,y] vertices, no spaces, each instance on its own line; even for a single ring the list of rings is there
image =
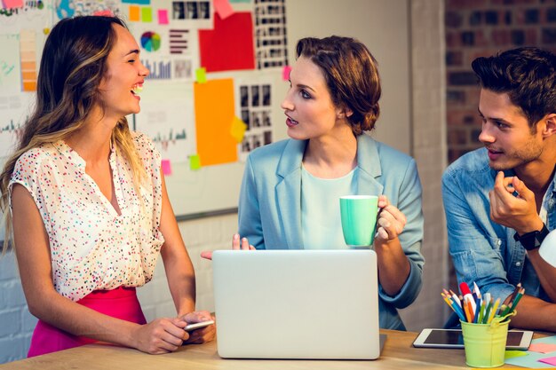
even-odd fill
[[[533,332],[526,330],[509,330],[506,350],[527,350]],[[461,329],[423,329],[413,342],[414,347],[424,348],[464,348]]]

